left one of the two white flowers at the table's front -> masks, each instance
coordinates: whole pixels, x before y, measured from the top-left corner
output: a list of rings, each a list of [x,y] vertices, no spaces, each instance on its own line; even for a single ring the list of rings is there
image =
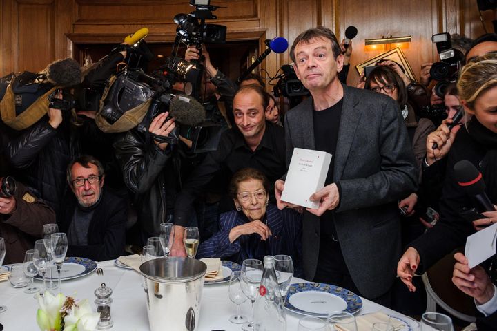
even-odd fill
[[[61,308],[66,301],[64,294],[52,296],[45,292],[43,296],[37,295],[39,309],[37,311],[37,323],[41,331],[54,331],[61,329]]]

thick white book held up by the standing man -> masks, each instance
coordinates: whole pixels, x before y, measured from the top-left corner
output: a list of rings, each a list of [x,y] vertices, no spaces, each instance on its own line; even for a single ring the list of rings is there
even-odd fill
[[[318,208],[309,198],[324,187],[332,155],[312,149],[293,149],[281,200],[307,208]]]

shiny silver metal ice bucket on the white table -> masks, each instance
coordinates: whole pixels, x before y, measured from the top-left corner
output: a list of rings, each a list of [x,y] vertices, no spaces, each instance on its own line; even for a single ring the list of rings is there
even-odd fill
[[[140,265],[151,331],[195,331],[207,266],[194,258],[155,258]]]

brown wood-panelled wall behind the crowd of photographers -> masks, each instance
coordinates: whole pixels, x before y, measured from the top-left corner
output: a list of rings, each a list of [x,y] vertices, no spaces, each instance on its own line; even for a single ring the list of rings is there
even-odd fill
[[[358,27],[353,39],[355,65],[391,46],[366,48],[364,39],[382,35],[412,35],[403,48],[417,74],[422,62],[436,59],[431,35],[459,32],[477,37],[484,30],[475,0],[212,0],[226,6],[215,15],[228,27],[228,40],[258,40],[282,36],[293,39],[307,28],[324,25],[342,39],[349,25]],[[39,70],[61,57],[71,56],[73,44],[117,43],[147,26],[151,43],[173,41],[178,12],[191,12],[188,0],[0,0],[0,75]],[[485,26],[493,31],[494,12],[483,12]],[[262,68],[273,75],[289,63],[288,51],[271,54]],[[358,75],[351,70],[349,83]]]

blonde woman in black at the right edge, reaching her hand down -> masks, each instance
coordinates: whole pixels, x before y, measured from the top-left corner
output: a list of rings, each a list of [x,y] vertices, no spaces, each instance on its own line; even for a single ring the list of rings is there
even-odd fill
[[[473,117],[459,130],[447,155],[440,220],[409,245],[398,263],[398,276],[411,291],[416,290],[411,282],[415,272],[422,274],[456,247],[465,245],[469,234],[497,222],[497,211],[482,210],[485,217],[474,222],[462,218],[463,208],[481,206],[465,194],[454,176],[454,164],[468,160],[483,174],[485,193],[497,203],[497,55],[469,62],[461,70],[457,87],[465,112]]]

